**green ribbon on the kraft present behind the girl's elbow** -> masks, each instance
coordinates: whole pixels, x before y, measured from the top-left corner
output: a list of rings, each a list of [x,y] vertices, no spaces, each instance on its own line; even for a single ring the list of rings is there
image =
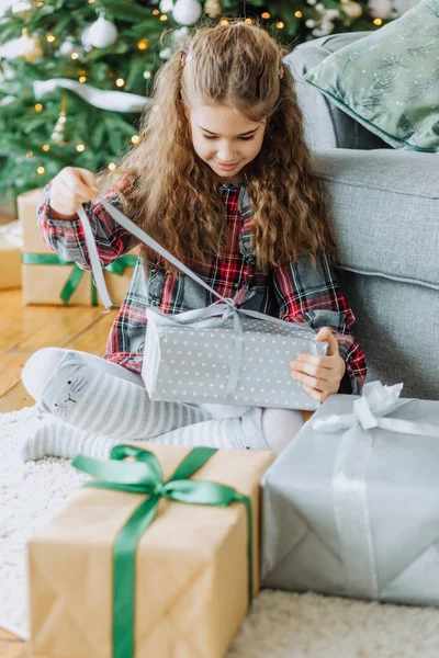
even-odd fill
[[[70,265],[72,271],[59,295],[64,304],[69,303],[71,295],[78,288],[79,282],[86,274],[86,270],[81,270],[77,263],[66,261],[57,253],[23,253],[22,262],[24,265]],[[136,262],[136,256],[121,256],[117,260],[105,265],[104,269],[108,272],[113,272],[113,274],[122,276],[126,268],[134,268]],[[91,305],[98,306],[98,293],[93,280],[91,280]]]

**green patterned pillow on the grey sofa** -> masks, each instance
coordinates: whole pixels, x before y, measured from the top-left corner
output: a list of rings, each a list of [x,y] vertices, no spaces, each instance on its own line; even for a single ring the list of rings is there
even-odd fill
[[[439,0],[329,55],[305,80],[394,148],[439,151]]]

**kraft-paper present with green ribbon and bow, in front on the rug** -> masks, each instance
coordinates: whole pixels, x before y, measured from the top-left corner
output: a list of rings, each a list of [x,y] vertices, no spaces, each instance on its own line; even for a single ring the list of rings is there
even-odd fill
[[[221,658],[237,632],[274,455],[146,446],[76,457],[97,479],[30,541],[34,658]]]

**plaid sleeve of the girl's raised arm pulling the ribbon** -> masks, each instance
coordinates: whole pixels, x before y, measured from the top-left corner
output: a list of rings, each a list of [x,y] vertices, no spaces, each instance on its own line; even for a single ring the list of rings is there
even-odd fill
[[[75,261],[83,270],[91,270],[82,225],[77,216],[72,220],[64,220],[50,207],[49,182],[38,203],[37,220],[43,240],[67,261]],[[105,201],[117,206],[119,193],[111,191],[103,196]],[[136,238],[110,217],[100,203],[85,204],[87,216],[98,248],[101,264],[108,265],[136,245]]]

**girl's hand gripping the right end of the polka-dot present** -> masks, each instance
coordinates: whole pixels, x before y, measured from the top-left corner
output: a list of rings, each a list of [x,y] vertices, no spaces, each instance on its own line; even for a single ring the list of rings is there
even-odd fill
[[[316,341],[323,340],[329,343],[326,355],[299,354],[297,359],[290,363],[291,377],[302,382],[304,390],[319,402],[338,392],[346,371],[337,340],[328,327],[323,327],[316,336]]]

